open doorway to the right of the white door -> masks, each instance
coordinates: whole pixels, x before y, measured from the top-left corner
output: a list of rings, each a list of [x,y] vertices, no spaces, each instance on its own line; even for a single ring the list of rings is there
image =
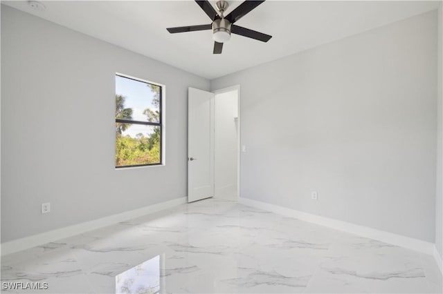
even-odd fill
[[[239,196],[239,86],[214,91],[214,197]]]

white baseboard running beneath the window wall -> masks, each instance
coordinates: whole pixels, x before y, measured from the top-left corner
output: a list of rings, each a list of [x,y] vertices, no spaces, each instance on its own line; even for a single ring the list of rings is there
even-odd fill
[[[118,222],[125,222],[129,219],[134,219],[143,215],[149,215],[150,213],[156,213],[160,210],[179,206],[180,204],[185,204],[187,201],[188,200],[186,197],[172,199],[167,202],[161,202],[159,204],[125,211],[124,213],[118,213],[116,215],[109,215],[100,219],[94,219],[90,222],[83,222],[81,224],[75,224],[73,226],[57,228],[53,231],[48,231],[21,239],[15,239],[10,242],[4,242],[1,244],[1,256],[46,244],[48,242],[54,242],[58,239],[71,237],[73,235],[78,235],[87,231],[96,230],[97,228],[102,228],[104,226],[117,224]]]

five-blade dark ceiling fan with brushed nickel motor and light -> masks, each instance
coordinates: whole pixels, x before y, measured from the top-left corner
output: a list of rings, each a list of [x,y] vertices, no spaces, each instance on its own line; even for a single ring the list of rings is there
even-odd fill
[[[235,8],[230,14],[224,16],[224,11],[228,8],[227,1],[217,1],[216,6],[220,14],[218,14],[213,6],[210,5],[209,1],[197,1],[197,4],[201,9],[208,14],[208,17],[213,21],[207,25],[199,26],[181,26],[177,28],[167,28],[168,32],[174,34],[176,32],[194,32],[197,30],[213,30],[214,39],[214,51],[213,54],[220,54],[223,48],[223,43],[229,41],[230,33],[240,35],[243,37],[248,37],[258,41],[267,42],[272,36],[263,34],[262,32],[256,32],[255,30],[249,30],[248,28],[243,28],[241,26],[236,26],[234,23],[238,21],[245,14],[251,12],[254,8],[259,6],[263,1],[244,1],[237,8]]]

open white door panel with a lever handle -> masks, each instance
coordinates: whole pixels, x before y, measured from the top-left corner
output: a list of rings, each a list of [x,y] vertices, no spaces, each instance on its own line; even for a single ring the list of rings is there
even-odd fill
[[[188,202],[214,196],[214,94],[188,90]]]

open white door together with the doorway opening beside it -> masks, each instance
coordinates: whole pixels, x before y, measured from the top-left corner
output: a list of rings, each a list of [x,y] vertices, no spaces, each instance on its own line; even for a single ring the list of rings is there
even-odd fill
[[[188,202],[238,199],[239,92],[188,89]]]

